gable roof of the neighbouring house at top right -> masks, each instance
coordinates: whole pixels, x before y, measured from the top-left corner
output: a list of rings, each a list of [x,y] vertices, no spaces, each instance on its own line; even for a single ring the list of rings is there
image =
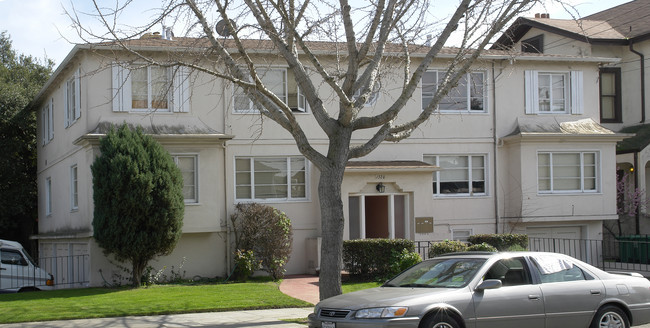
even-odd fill
[[[520,17],[492,45],[508,49],[532,28],[600,44],[627,45],[650,38],[650,0],[635,0],[574,20]]]

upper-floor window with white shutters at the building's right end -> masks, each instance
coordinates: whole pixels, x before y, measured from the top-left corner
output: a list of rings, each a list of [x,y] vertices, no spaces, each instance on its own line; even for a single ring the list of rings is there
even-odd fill
[[[582,114],[582,71],[525,71],[526,114]]]

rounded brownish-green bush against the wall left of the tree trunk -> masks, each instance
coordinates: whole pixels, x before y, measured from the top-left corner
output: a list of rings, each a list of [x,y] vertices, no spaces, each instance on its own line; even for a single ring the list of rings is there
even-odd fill
[[[237,204],[230,217],[235,249],[252,250],[262,268],[274,279],[284,276],[293,236],[291,220],[281,211],[257,203]]]

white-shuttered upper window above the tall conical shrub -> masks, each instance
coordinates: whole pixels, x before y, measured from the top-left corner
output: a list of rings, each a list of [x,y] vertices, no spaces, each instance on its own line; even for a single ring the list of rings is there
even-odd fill
[[[144,67],[145,65],[141,65]],[[148,80],[151,81],[152,66],[147,67]],[[185,66],[169,67],[167,68],[167,83],[170,83],[167,90],[167,108],[153,109],[151,108],[151,83],[148,83],[147,91],[147,107],[132,108],[132,81],[131,69],[139,68],[137,64],[128,65],[126,63],[113,63],[111,67],[112,73],[112,107],[113,112],[135,112],[143,113],[155,111],[159,113],[189,113],[190,111],[190,96],[189,89],[189,68]]]

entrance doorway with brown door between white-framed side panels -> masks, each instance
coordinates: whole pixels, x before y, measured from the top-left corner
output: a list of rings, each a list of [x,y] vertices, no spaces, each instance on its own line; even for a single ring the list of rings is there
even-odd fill
[[[408,238],[406,203],[401,194],[350,196],[350,239]]]

